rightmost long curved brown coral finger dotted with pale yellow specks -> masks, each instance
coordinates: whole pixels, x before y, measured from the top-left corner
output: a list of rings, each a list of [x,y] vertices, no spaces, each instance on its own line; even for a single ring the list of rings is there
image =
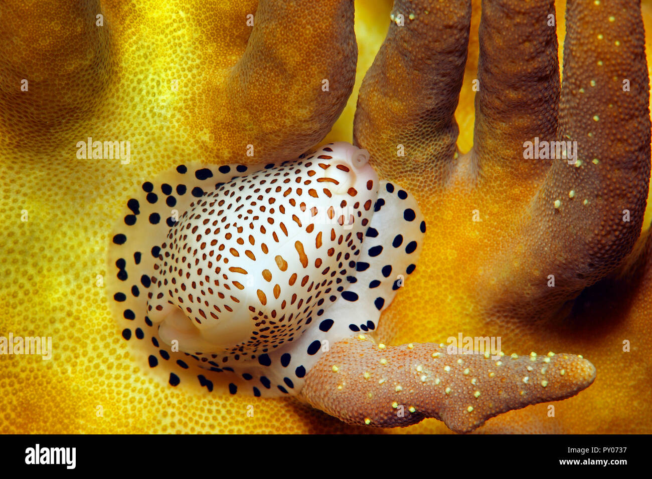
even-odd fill
[[[554,312],[614,270],[642,227],[650,120],[640,3],[569,2],[567,24],[559,108],[567,158],[554,160],[520,234],[481,278],[501,315]]]

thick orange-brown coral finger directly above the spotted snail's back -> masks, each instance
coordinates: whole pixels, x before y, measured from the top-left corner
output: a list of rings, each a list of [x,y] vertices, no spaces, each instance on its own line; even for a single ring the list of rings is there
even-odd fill
[[[353,0],[263,0],[243,56],[226,79],[226,156],[293,158],[318,143],[353,89],[357,45]]]

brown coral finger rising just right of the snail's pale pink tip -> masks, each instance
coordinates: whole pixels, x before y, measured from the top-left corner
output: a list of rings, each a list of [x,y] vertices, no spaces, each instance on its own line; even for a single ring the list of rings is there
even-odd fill
[[[396,0],[392,18],[360,89],[353,139],[381,176],[418,191],[454,166],[471,2]]]

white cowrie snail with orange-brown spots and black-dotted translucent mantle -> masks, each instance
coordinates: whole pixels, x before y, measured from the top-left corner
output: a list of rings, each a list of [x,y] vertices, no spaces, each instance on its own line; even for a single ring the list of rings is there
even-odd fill
[[[136,355],[173,386],[279,396],[297,394],[327,345],[373,332],[425,224],[368,159],[331,143],[278,166],[185,164],[144,182],[108,260]]]

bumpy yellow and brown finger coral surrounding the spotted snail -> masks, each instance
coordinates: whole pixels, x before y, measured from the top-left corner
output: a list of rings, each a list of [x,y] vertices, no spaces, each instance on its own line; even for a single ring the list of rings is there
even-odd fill
[[[359,59],[353,7],[0,5],[0,336],[53,338],[51,360],[0,356],[0,432],[467,431],[527,403],[510,388],[492,405],[492,372],[522,376],[523,391],[538,385],[534,394],[545,388],[546,396],[479,433],[652,432],[649,3],[569,2],[561,81],[563,3],[357,1]],[[291,398],[162,383],[134,361],[106,299],[107,247],[124,201],[183,162],[278,162],[325,135],[367,149],[381,179],[417,197],[428,224],[419,267],[383,312],[375,341],[334,345],[315,382],[306,379],[332,392],[350,375],[360,390],[384,394],[392,411],[361,415],[364,397],[321,397],[306,386],[307,401],[351,426]],[[130,141],[128,162],[80,158],[78,142],[89,138]],[[524,158],[524,142],[535,138],[577,141],[576,161]],[[481,356],[452,360],[444,365],[451,386],[431,389],[427,403],[416,373],[404,404],[394,394],[406,385],[365,387],[365,372],[376,383],[391,379],[396,355],[412,355],[417,372],[443,360],[432,356],[445,356],[439,343],[460,332],[500,336],[505,372]],[[552,415],[548,401],[585,387],[593,370],[579,356],[546,351],[584,355],[597,370],[586,390],[552,403]],[[477,388],[473,372],[486,374]],[[445,407],[440,399],[454,386],[464,394]],[[446,424],[378,429],[410,424],[396,419],[394,402],[404,418],[424,413]]]

